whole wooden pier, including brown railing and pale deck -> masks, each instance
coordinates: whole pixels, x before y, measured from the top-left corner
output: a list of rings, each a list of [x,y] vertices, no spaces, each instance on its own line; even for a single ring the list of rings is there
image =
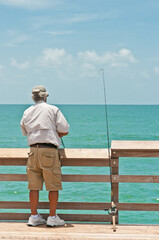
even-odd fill
[[[28,151],[29,149],[0,149],[0,165],[25,166]],[[120,225],[118,218],[119,211],[159,211],[157,203],[119,202],[119,183],[121,182],[159,183],[159,175],[120,175],[120,158],[159,157],[159,141],[112,141],[111,159],[108,158],[107,149],[60,149],[59,153],[62,166],[109,167],[111,165],[114,192],[111,201],[115,202],[118,209],[117,231],[112,230],[112,216],[109,214],[82,214],[82,210],[110,208],[110,202],[59,202],[58,209],[81,210],[81,214],[59,214],[65,219],[66,226],[48,229],[45,226],[28,228],[25,221],[30,214],[16,212],[16,209],[29,209],[29,202],[13,202],[6,199],[0,201],[0,211],[3,210],[0,212],[0,239],[159,239],[159,226]],[[0,181],[27,181],[27,177],[26,174],[5,173],[0,174]],[[62,181],[110,182],[110,176],[66,174],[62,175]],[[40,202],[38,208],[48,209],[49,204]],[[4,209],[7,211],[4,212]],[[9,209],[15,209],[15,212]],[[42,215],[46,218],[46,214]],[[17,223],[16,220],[20,222]],[[88,224],[79,224],[79,222],[88,222]]]

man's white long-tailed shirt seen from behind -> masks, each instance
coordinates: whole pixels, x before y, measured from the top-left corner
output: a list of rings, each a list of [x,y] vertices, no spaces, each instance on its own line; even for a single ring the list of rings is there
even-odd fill
[[[59,147],[60,137],[57,132],[69,131],[69,125],[59,108],[44,101],[38,101],[26,109],[20,125],[23,135],[27,136],[28,145],[52,143]]]

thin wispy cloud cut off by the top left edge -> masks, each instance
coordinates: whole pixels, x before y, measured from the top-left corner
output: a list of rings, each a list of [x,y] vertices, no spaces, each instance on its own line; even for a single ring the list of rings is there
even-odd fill
[[[0,5],[32,10],[49,8],[60,3],[61,0],[0,0]]]

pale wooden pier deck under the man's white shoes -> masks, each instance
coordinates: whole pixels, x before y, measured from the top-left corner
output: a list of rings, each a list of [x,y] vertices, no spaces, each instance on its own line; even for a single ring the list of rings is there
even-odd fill
[[[72,224],[63,227],[47,228],[45,225],[28,227],[26,223],[0,222],[0,239],[38,239],[38,240],[85,240],[85,239],[122,239],[158,240],[157,225],[117,225],[113,232],[111,225]]]

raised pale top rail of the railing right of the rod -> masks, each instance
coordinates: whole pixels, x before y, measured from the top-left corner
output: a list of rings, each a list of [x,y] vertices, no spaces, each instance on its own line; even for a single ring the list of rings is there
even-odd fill
[[[159,157],[159,141],[112,141],[112,157]]]

